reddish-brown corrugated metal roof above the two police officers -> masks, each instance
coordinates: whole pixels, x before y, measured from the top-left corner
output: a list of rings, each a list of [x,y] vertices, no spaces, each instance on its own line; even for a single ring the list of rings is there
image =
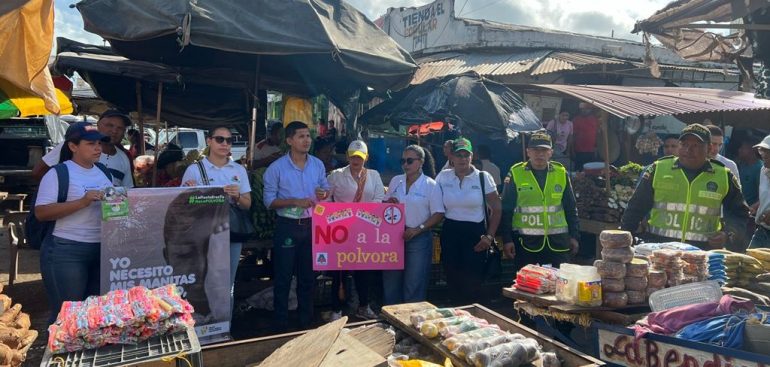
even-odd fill
[[[560,84],[535,86],[571,95],[622,118],[770,110],[770,100],[754,98],[752,93],[719,89]]]

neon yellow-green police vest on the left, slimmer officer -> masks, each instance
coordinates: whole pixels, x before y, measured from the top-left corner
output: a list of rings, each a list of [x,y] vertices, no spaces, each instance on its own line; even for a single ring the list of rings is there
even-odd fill
[[[523,246],[529,252],[540,252],[546,244],[552,251],[569,251],[569,248],[554,249],[548,241],[548,235],[568,232],[567,218],[561,204],[567,188],[567,170],[557,162],[550,162],[545,187],[540,189],[528,164],[522,162],[511,167],[511,178],[516,184],[513,229],[522,235],[543,236],[539,248]]]

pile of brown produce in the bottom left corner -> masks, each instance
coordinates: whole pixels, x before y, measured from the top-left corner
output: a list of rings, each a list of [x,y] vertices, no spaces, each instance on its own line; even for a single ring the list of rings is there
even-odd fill
[[[21,304],[12,305],[2,291],[0,284],[0,366],[21,366],[38,333],[30,330],[29,315],[21,312]]]

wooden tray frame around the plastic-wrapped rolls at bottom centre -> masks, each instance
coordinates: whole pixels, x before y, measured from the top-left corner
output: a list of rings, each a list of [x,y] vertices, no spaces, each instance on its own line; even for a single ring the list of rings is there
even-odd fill
[[[409,321],[409,316],[412,313],[423,311],[426,309],[431,309],[431,308],[436,308],[436,306],[428,302],[406,303],[402,305],[383,306],[382,315],[385,318],[385,320],[387,320],[393,326],[403,330],[404,332],[409,334],[411,337],[419,341],[421,344],[430,347],[432,350],[434,350],[437,353],[440,353],[445,357],[448,357],[452,361],[452,364],[455,367],[466,367],[466,366],[470,367],[464,359],[461,359],[455,356],[446,347],[441,345],[441,338],[428,339],[424,337],[422,334],[420,334],[420,332],[411,325],[411,322]],[[596,367],[596,366],[603,366],[605,364],[604,362],[598,359],[590,357],[584,353],[581,353],[580,351],[577,351],[562,343],[559,343],[553,339],[550,339],[547,336],[542,335],[535,330],[532,330],[522,324],[519,324],[479,304],[473,304],[473,305],[462,306],[457,308],[466,310],[475,317],[485,319],[490,324],[497,324],[498,326],[500,326],[502,330],[509,331],[512,333],[519,333],[528,338],[533,338],[537,340],[540,343],[540,345],[543,346],[544,350],[553,351],[559,356],[559,358],[563,361],[562,362],[563,367]],[[535,363],[533,364],[536,367],[542,366],[542,362],[540,360],[535,361]]]

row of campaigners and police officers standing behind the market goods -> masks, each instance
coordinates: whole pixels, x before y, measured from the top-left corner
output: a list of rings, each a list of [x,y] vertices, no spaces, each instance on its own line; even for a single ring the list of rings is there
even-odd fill
[[[107,187],[132,186],[130,163],[118,148],[129,125],[128,117],[117,111],[102,115],[96,126],[72,124],[65,142],[57,147],[60,153],[47,156],[36,168],[36,172],[44,173],[35,202],[36,216],[56,221],[41,254],[41,273],[52,309],[50,321],[63,301],[99,293],[99,201]],[[367,168],[369,151],[361,140],[350,143],[347,165],[340,167],[311,154],[314,140],[303,122],[285,127],[273,123],[268,132],[264,143],[257,145],[254,158],[258,166],[266,167],[261,199],[277,214],[271,252],[276,331],[289,327],[294,276],[300,327],[310,326],[314,320],[311,211],[322,201],[405,205],[404,269],[351,274],[359,299],[356,314],[362,318],[376,317],[370,306],[375,277],[382,279],[384,304],[425,300],[433,256],[432,229],[439,225],[441,263],[458,304],[478,300],[496,249],[513,258],[518,267],[531,263],[558,266],[579,249],[578,208],[570,174],[564,165],[552,160],[558,154],[554,146],[561,149],[563,145],[558,137],[554,142],[547,130],[531,134],[526,159],[510,167],[502,183],[483,169],[491,167],[488,152],[477,152],[471,141],[460,137],[445,145],[449,162],[435,177],[423,169],[430,153],[419,145],[407,146],[401,152],[403,174],[393,177],[387,188],[379,172]],[[621,228],[647,239],[742,251],[750,208],[741,192],[740,176],[721,163],[719,155],[710,154],[719,151],[720,136],[721,131],[713,127],[693,124],[679,136],[667,137],[664,151],[669,155],[645,169]],[[179,185],[223,186],[232,205],[248,209],[251,186],[244,166],[230,158],[230,129],[211,129],[206,142],[207,155],[186,169]],[[279,153],[284,143],[288,152]],[[319,154],[328,147],[323,140],[315,145]],[[758,200],[751,209],[758,213],[752,246],[759,246],[770,242],[770,137],[752,150],[758,152],[763,164]],[[481,159],[474,158],[478,153]],[[48,170],[51,167],[56,169]],[[65,198],[57,192],[60,180],[67,181]],[[498,234],[502,237],[500,247],[496,244]],[[231,243],[231,287],[241,248],[241,243]],[[339,289],[348,274],[332,275],[333,289]],[[333,293],[332,318],[339,318],[343,304]]]

